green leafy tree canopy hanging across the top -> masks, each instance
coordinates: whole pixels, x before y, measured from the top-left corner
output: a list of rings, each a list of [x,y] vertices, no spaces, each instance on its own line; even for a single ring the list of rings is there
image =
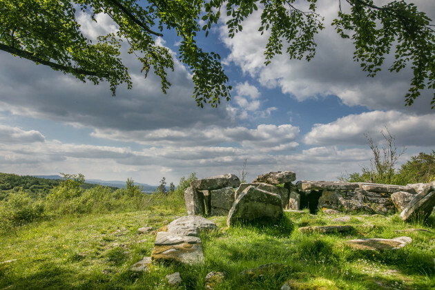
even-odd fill
[[[10,52],[54,70],[71,73],[94,84],[108,81],[115,95],[119,84],[131,88],[128,69],[119,56],[121,41],[142,63],[144,76],[153,68],[162,80],[162,90],[171,85],[166,71],[173,59],[160,46],[162,32],[175,30],[181,38],[179,57],[193,74],[193,97],[198,106],[218,106],[230,99],[231,86],[220,63],[220,55],[205,52],[197,44],[202,30],[209,35],[222,14],[226,14],[229,37],[243,29],[243,21],[261,9],[258,29],[267,32],[265,64],[275,55],[287,53],[290,59],[310,60],[316,52],[314,36],[324,28],[316,12],[317,0],[1,0],[0,50]],[[354,59],[373,77],[385,55],[394,46],[395,61],[389,68],[400,71],[411,66],[414,77],[405,104],[411,105],[424,88],[435,88],[435,35],[424,12],[405,1],[376,6],[373,0],[346,0],[349,12],[341,10],[333,25],[343,38],[354,41]],[[344,2],[344,1],[343,1]],[[100,35],[93,43],[84,37],[77,22],[79,11],[92,15],[105,13],[118,30]],[[95,20],[96,21],[96,20]],[[200,25],[204,23],[204,25]],[[432,100],[435,106],[435,94]]]

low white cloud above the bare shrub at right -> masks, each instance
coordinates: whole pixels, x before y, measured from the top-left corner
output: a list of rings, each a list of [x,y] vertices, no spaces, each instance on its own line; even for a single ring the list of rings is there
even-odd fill
[[[388,128],[399,145],[431,146],[435,144],[435,115],[411,115],[395,110],[375,110],[341,117],[329,124],[315,124],[303,137],[305,144],[367,144],[364,134],[383,139],[380,131]]]

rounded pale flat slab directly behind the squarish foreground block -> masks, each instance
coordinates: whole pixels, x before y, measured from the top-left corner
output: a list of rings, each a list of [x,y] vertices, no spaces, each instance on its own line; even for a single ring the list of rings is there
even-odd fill
[[[218,226],[211,220],[197,215],[187,215],[173,220],[166,226],[168,233],[176,235],[189,235],[197,237],[200,231],[211,231],[218,229]]]

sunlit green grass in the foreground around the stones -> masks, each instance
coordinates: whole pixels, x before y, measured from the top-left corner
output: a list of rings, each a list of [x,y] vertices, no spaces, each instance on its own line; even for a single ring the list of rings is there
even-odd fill
[[[226,274],[215,289],[280,289],[284,282],[293,289],[435,289],[435,229],[405,224],[397,215],[352,215],[346,224],[355,230],[345,235],[299,233],[300,226],[343,224],[308,211],[286,213],[276,224],[231,228],[225,227],[226,217],[209,217],[219,229],[202,234],[204,265],[129,271],[153,250],[155,233],[140,234],[139,227],[157,231],[186,215],[182,197],[165,198],[141,211],[62,215],[1,233],[0,289],[171,289],[165,276],[175,271],[183,283],[173,289],[204,289],[210,271]],[[355,251],[344,244],[401,235],[413,242],[396,251]],[[286,267],[238,275],[268,263]]]

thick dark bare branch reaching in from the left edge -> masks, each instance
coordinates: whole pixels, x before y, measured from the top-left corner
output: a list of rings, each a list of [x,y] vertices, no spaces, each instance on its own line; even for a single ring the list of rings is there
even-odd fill
[[[35,55],[33,55],[32,52],[28,52],[26,50],[20,50],[18,48],[12,48],[11,46],[6,46],[3,43],[0,43],[0,50],[9,52],[12,55],[18,55],[19,57],[23,57],[24,59],[29,59],[38,64],[43,64],[44,66],[50,66],[50,68],[54,68],[56,70],[63,70],[64,72],[72,72],[77,75],[88,75],[90,77],[109,77],[109,74],[107,73],[94,72],[92,70],[84,70],[83,68],[72,68],[70,66],[56,64],[55,62],[41,59],[39,57],[35,57]]]

